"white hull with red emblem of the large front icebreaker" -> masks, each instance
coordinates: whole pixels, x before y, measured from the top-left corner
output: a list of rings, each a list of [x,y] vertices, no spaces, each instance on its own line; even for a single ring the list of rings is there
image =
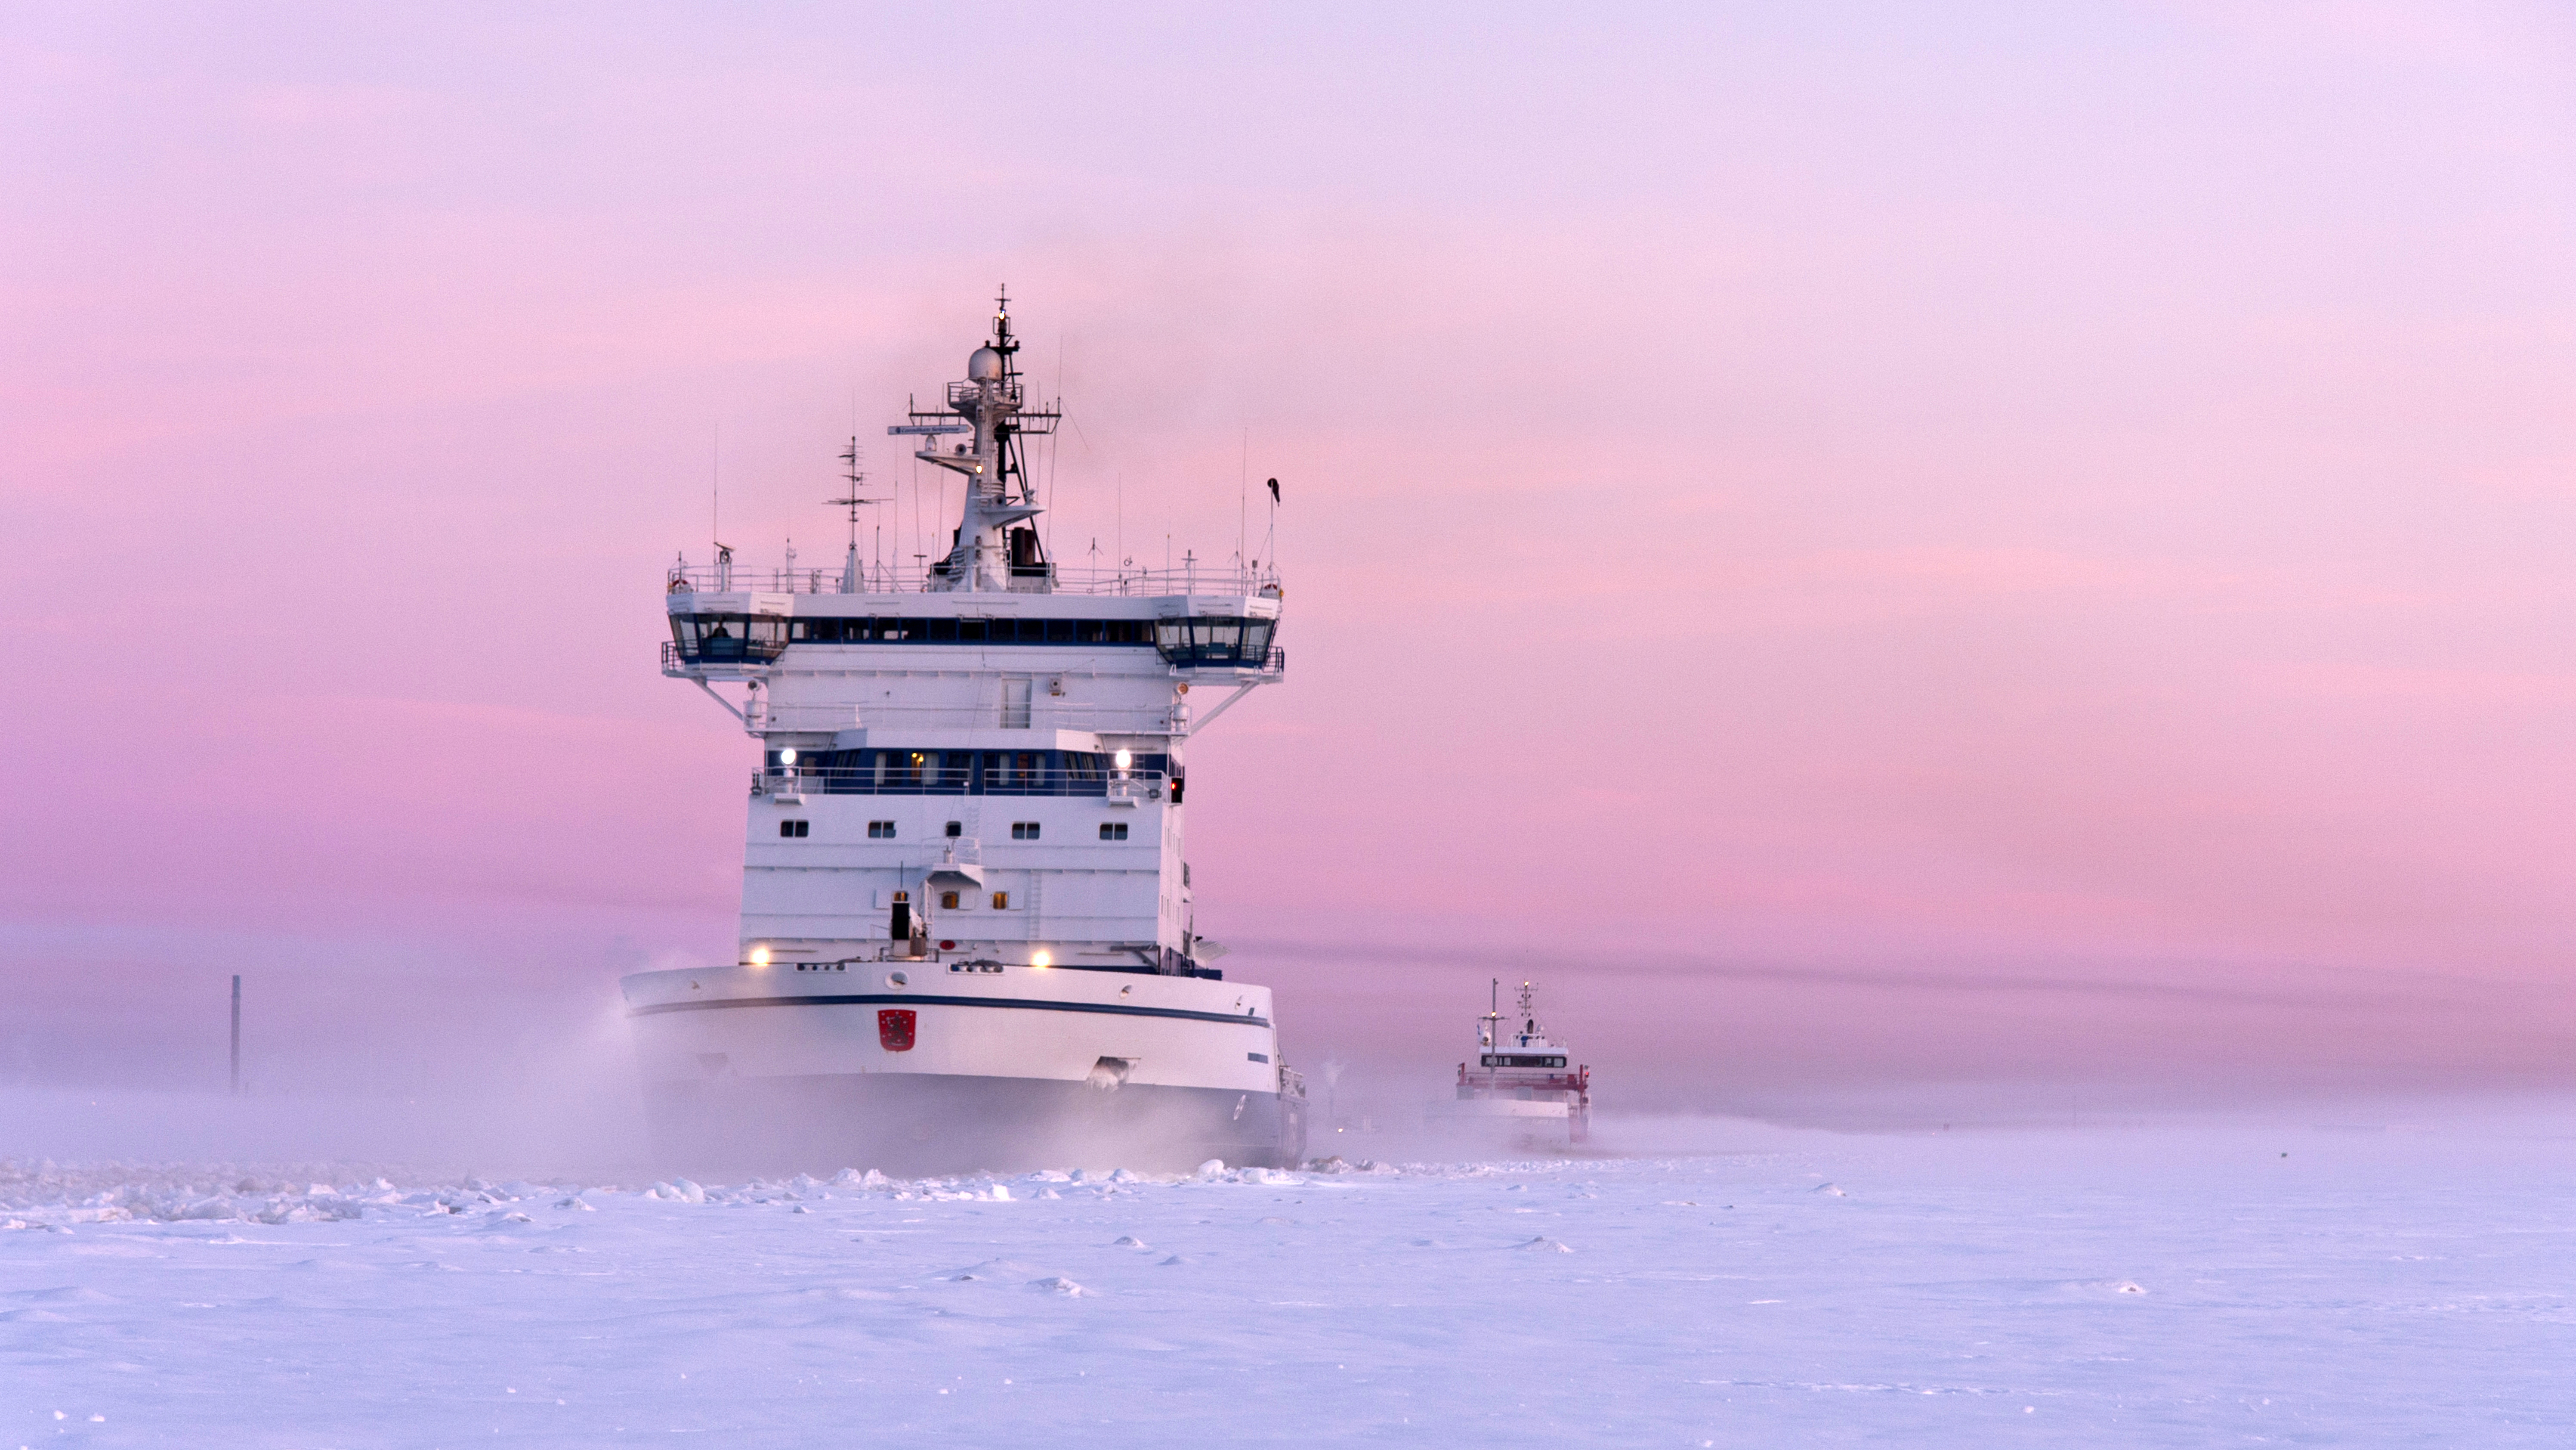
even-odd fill
[[[626,979],[657,1149],[706,1172],[1285,1167],[1270,992],[997,963]]]

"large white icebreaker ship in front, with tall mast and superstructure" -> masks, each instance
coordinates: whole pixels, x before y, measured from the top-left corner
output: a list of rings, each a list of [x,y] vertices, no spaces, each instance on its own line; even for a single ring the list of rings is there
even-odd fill
[[[623,979],[665,1156],[969,1172],[1288,1167],[1306,1087],[1270,989],[1198,935],[1190,739],[1285,677],[1275,561],[1059,567],[1007,294],[889,428],[963,484],[951,549],[840,569],[685,556],[662,672],[760,742],[737,958]],[[1273,484],[1275,497],[1275,484]],[[719,693],[739,688],[739,695]],[[1200,690],[1193,695],[1193,688]],[[1221,690],[1206,703],[1206,690]]]

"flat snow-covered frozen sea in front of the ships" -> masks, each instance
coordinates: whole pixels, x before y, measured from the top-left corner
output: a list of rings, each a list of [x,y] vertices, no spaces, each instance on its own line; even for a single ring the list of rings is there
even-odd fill
[[[15,1159],[0,1450],[2576,1442],[2555,1110],[1337,1146],[750,1185]]]

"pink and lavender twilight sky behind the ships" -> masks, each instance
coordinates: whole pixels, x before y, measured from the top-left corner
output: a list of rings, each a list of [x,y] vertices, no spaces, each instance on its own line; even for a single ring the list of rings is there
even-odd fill
[[[1283,479],[1190,855],[1301,1059],[1435,1074],[1499,974],[1636,1102],[2566,1084],[2571,72],[2550,5],[13,5],[0,1077],[211,1082],[234,971],[273,1084],[489,1071],[726,961],[659,569],[832,556],[1010,283],[1056,556]]]

